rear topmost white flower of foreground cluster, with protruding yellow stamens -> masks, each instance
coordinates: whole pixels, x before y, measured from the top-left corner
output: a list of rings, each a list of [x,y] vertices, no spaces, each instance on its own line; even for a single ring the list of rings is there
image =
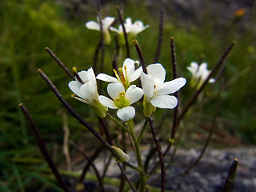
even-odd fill
[[[136,61],[136,63],[138,63],[138,61]],[[134,60],[126,58],[125,62],[123,62],[122,68],[120,69],[120,77],[118,76],[117,71],[114,70],[116,78],[113,78],[108,74],[98,74],[96,78],[104,82],[120,82],[125,89],[127,89],[128,86],[130,86],[130,82],[134,82],[142,73],[142,67],[135,70],[134,64]]]

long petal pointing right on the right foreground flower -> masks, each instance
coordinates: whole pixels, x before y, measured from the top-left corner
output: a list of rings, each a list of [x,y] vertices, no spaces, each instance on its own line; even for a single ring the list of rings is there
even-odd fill
[[[157,86],[154,91],[158,95],[173,94],[174,92],[182,88],[182,86],[185,86],[185,84],[186,84],[186,78],[175,78],[170,82],[164,82],[162,85]]]

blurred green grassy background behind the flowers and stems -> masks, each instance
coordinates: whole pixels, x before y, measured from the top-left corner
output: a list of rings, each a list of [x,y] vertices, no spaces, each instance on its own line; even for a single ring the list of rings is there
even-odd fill
[[[201,4],[195,2],[197,1],[191,6],[186,3],[178,4],[175,1],[171,3],[162,1],[166,6],[162,52],[158,62],[166,67],[166,79],[170,80],[172,77],[170,37],[174,37],[178,73],[188,82],[182,89],[181,99],[181,103],[186,103],[195,91],[189,87],[190,73],[186,70],[186,66],[190,65],[190,62],[197,62],[203,54],[203,61],[207,62],[208,68],[211,69],[226,46],[234,40],[236,44],[225,62],[222,76],[218,79],[219,83],[207,86],[204,97],[208,98],[202,103],[198,102],[198,106],[195,105],[189,112],[186,116],[186,125],[194,127],[195,130],[198,128],[194,125],[202,123],[210,125],[218,87],[222,86],[218,131],[236,140],[230,142],[230,138],[224,138],[226,139],[224,146],[233,146],[234,143],[254,145],[256,143],[254,1],[245,1],[242,4],[239,1],[230,1],[226,6],[222,1],[205,1]],[[138,42],[142,47],[146,63],[153,63],[158,40],[158,18],[162,7],[160,1],[105,1],[102,3],[102,17],[117,17],[117,5],[122,7],[125,18],[130,17],[133,21],[142,20],[144,24],[150,25],[150,28],[138,34]],[[222,11],[225,10],[225,16],[216,14],[216,10],[218,13],[223,13]],[[38,68],[50,77],[64,98],[88,122],[97,126],[92,110],[70,98],[72,93],[67,84],[71,79],[45,51],[45,47],[49,47],[69,69],[76,66],[78,70],[87,70],[92,66],[94,50],[99,41],[97,31],[86,29],[85,22],[90,20],[96,20],[94,1],[4,0],[0,2],[1,191],[25,191],[34,180],[59,190],[50,179],[42,177],[39,170],[27,169],[27,166],[46,167],[46,163],[43,162],[26,119],[19,110],[19,103],[23,102],[30,110],[50,149],[57,146],[54,158],[56,162],[63,161],[61,146],[62,126],[65,120],[70,127],[70,140],[85,141],[86,138],[90,138],[90,134],[82,130],[78,122],[67,114],[40,78],[37,73]],[[138,60],[133,46],[130,50],[131,58]],[[111,74],[111,58],[108,53],[105,63],[104,72]],[[122,63],[118,65],[122,66]],[[158,110],[157,121],[162,113],[162,110]],[[163,135],[165,131],[162,129]],[[193,131],[187,133],[189,134],[186,135],[187,138],[193,135]],[[206,132],[202,130],[202,133]],[[186,142],[183,142],[183,145],[186,146]],[[14,182],[18,185],[12,185]]]

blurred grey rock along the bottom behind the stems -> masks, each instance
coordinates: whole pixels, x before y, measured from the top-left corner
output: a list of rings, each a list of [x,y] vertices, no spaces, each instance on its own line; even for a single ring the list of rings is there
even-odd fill
[[[175,192],[217,192],[222,189],[226,180],[230,165],[234,158],[238,158],[238,170],[234,180],[231,192],[256,192],[256,148],[238,148],[224,150],[206,150],[197,166],[179,177],[175,174],[181,173],[182,170],[194,162],[200,150],[195,149],[178,149],[174,158],[174,164],[166,171],[166,190]],[[143,151],[142,154],[146,154]],[[135,164],[134,154],[129,153],[131,159],[129,162]],[[167,158],[168,159],[168,158]],[[102,170],[104,164],[96,161],[99,170]],[[93,172],[92,172],[93,173]],[[138,175],[127,168],[127,174],[131,179],[137,178]],[[114,161],[112,161],[110,170],[107,172],[108,177],[118,178],[120,172]],[[158,177],[154,174],[152,180]],[[91,183],[87,185],[92,185]],[[153,186],[159,187],[160,182],[154,182]],[[113,187],[109,191],[116,191]]]

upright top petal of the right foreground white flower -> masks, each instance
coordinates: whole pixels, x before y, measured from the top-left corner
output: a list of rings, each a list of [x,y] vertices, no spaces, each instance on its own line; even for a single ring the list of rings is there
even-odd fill
[[[148,74],[152,75],[155,79],[155,83],[162,83],[166,79],[166,70],[160,63],[151,64],[146,67]]]

